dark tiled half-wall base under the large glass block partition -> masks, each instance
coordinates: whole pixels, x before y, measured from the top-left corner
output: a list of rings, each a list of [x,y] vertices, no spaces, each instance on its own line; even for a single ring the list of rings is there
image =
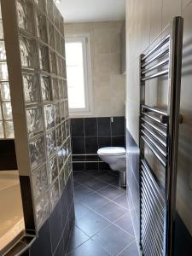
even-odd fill
[[[65,255],[67,241],[73,225],[73,177],[68,179],[60,201],[38,232],[38,239],[22,254],[30,256]]]

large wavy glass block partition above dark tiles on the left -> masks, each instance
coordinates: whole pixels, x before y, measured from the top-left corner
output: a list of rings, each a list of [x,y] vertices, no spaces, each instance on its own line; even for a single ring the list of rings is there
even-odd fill
[[[17,115],[13,108],[15,143],[19,155],[21,152],[18,148],[21,144],[16,136],[20,135],[20,125],[24,130],[26,127],[27,135],[22,145],[26,145],[28,161],[18,161],[21,167],[25,164],[26,172],[29,173],[36,228],[39,230],[59,201],[72,172],[64,20],[53,0],[2,2],[7,14],[13,4],[16,17],[13,20],[15,24],[11,24],[10,20],[10,24],[6,25],[7,30],[16,26],[15,35],[7,36],[7,53],[9,54],[11,40],[18,42],[20,52],[20,73],[11,63],[9,54],[8,65],[13,72],[10,74],[11,92],[14,91],[11,93],[12,103],[15,106],[18,104],[25,112],[25,116]],[[15,91],[14,73],[21,76],[18,91]],[[22,92],[19,91],[20,88]],[[15,102],[17,94],[20,94],[23,101]],[[20,122],[15,119],[17,116]]]

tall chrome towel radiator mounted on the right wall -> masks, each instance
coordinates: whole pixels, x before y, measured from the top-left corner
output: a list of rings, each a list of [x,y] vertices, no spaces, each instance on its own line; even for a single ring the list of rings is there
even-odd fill
[[[172,255],[182,48],[183,18],[175,17],[158,42],[140,56],[140,245],[144,256]],[[147,83],[152,79],[167,79],[166,108],[146,103],[146,85],[151,86]]]

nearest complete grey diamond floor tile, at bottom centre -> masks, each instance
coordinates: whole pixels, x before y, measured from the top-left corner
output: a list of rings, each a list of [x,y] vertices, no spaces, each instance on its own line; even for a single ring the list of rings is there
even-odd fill
[[[93,240],[112,255],[117,255],[134,241],[134,237],[111,224],[107,229],[93,236]]]

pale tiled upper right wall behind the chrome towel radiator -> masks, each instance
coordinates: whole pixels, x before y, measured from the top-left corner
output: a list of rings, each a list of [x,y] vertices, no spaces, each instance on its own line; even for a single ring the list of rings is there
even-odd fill
[[[184,18],[181,93],[183,125],[180,125],[178,148],[177,211],[192,235],[192,188],[189,187],[192,179],[192,1],[126,0],[126,125],[138,143],[139,55],[176,15],[183,15]],[[154,92],[148,91],[148,102],[154,100]]]

